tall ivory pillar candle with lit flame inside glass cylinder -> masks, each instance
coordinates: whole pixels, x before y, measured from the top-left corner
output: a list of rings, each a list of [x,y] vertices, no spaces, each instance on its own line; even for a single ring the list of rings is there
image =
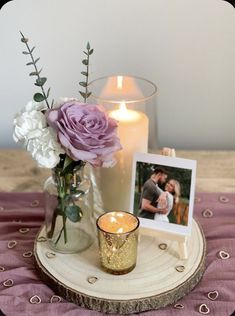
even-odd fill
[[[127,109],[124,102],[109,115],[119,122],[118,136],[123,149],[116,154],[114,167],[98,171],[103,209],[130,211],[133,154],[148,150],[148,118],[142,112]]]

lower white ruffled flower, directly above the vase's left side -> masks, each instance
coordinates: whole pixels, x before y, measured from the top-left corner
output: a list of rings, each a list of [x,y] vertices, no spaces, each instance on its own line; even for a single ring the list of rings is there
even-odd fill
[[[51,127],[42,129],[40,137],[29,139],[27,150],[42,168],[54,168],[60,161],[59,155],[64,154]]]

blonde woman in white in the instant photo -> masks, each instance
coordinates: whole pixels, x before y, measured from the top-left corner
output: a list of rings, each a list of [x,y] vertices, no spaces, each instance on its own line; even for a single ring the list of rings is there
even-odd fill
[[[167,213],[166,214],[155,213],[154,220],[169,223],[168,215],[170,214],[170,211],[173,209],[174,204],[179,202],[180,184],[177,180],[171,179],[166,183],[165,191],[160,189],[158,186],[157,186],[157,190],[160,190],[161,192],[157,201],[158,202],[157,208],[166,208]]]

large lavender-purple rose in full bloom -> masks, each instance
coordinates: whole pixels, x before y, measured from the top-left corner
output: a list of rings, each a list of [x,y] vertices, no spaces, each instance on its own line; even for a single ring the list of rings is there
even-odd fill
[[[56,130],[67,155],[75,161],[108,166],[113,153],[121,149],[117,121],[99,105],[68,101],[49,110],[47,121]]]

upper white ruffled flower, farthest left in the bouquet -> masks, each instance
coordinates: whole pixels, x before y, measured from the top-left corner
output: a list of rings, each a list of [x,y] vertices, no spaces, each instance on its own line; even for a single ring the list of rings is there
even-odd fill
[[[30,101],[14,118],[13,139],[27,146],[29,139],[40,137],[42,129],[47,126],[43,103]]]

